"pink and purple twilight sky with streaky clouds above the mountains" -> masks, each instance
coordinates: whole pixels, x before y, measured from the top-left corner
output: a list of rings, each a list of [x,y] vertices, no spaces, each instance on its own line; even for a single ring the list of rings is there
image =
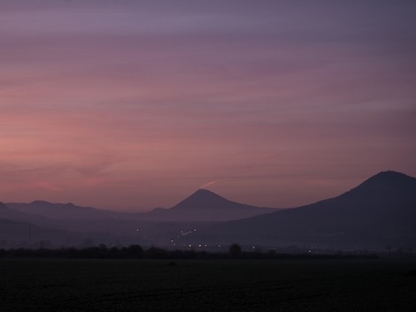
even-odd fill
[[[416,176],[416,3],[0,0],[0,201],[296,207]]]

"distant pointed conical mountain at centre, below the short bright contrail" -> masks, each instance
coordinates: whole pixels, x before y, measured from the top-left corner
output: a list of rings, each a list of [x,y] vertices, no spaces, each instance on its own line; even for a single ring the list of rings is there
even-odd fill
[[[157,221],[226,221],[252,217],[275,209],[260,208],[231,202],[206,189],[199,189],[171,209],[153,209],[143,214],[142,219]]]

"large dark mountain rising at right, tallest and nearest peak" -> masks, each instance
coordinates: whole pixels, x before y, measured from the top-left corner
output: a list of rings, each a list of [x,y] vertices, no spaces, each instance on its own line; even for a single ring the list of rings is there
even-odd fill
[[[335,198],[216,224],[200,234],[220,243],[416,247],[416,179],[383,171]]]

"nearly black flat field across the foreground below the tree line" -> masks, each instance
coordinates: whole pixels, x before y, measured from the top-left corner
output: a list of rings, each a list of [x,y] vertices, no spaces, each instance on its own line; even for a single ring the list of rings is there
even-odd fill
[[[0,261],[1,311],[416,311],[416,263]]]

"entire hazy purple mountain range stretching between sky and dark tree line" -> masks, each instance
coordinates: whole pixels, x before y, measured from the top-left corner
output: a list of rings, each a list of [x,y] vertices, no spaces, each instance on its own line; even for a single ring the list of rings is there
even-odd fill
[[[337,197],[294,209],[258,208],[204,189],[170,209],[146,213],[72,203],[0,203],[0,221],[0,241],[12,240],[8,234],[13,227],[27,238],[27,230],[22,229],[31,227],[33,238],[35,232],[50,232],[49,240],[54,244],[93,238],[107,244],[128,241],[176,247],[232,242],[327,248],[416,247],[416,179],[383,171]],[[16,237],[13,240],[18,240]]]

